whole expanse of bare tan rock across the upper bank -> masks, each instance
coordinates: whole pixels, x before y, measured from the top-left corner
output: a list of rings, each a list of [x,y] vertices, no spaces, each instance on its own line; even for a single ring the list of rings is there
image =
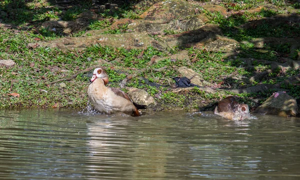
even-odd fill
[[[207,9],[213,12],[214,6]],[[222,13],[224,8],[216,6]],[[106,8],[107,9],[107,8]],[[195,47],[214,52],[235,51],[238,42],[222,36],[218,25],[206,24],[205,14],[198,14],[195,8],[184,0],[164,0],[155,3],[142,15],[139,20],[120,19],[109,28],[87,31],[83,37],[60,38],[51,42],[29,44],[35,48],[51,47],[65,50],[83,50],[91,45],[112,46],[126,49],[144,49],[153,46],[159,51],[170,50],[172,47]],[[198,14],[198,15],[197,15]],[[93,11],[84,12],[75,21],[48,21],[41,27],[49,31],[65,34],[82,30],[88,25],[87,20],[98,19]],[[127,26],[126,33],[107,34],[107,30],[115,30]],[[155,40],[148,34],[160,35]]]

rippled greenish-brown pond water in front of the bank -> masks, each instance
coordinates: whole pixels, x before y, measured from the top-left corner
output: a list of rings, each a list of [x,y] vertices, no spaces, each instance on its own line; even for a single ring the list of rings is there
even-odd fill
[[[300,120],[0,112],[0,179],[300,179]]]

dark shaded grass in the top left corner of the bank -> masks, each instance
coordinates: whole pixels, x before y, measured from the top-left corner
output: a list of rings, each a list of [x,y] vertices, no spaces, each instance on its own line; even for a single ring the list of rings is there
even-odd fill
[[[45,21],[72,21],[77,16],[92,7],[104,5],[109,0],[4,0],[0,4],[0,23],[14,26],[30,26],[31,28],[41,25]],[[128,10],[128,1],[114,1],[122,6],[111,17],[118,17],[120,13]],[[107,15],[104,12],[103,15]]]

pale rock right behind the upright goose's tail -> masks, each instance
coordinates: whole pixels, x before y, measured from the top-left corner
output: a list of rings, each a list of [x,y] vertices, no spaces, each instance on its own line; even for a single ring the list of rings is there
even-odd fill
[[[132,99],[132,101],[136,104],[146,105],[148,106],[155,106],[156,102],[152,96],[150,96],[145,90],[137,89],[134,87],[128,88],[128,95]]]

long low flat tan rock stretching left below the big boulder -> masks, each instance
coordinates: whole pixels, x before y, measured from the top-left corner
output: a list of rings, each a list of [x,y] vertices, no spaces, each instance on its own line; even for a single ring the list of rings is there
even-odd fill
[[[116,48],[127,49],[145,49],[148,46],[153,46],[155,49],[164,51],[168,49],[163,43],[156,41],[145,34],[140,33],[123,33],[123,34],[105,34],[86,37],[66,37],[48,42],[29,43],[28,46],[35,48],[50,47],[58,48],[63,51],[77,49],[83,50],[91,45],[99,44],[101,46],[112,46]]]

